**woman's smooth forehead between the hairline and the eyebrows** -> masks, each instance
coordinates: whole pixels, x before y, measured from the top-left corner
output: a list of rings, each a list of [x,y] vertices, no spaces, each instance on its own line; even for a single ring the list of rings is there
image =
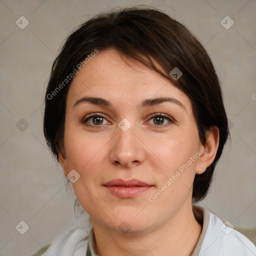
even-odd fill
[[[189,98],[170,81],[115,49],[99,51],[74,76],[68,100],[74,103],[84,95],[120,104],[123,100],[137,104],[145,98],[168,96],[190,107]]]

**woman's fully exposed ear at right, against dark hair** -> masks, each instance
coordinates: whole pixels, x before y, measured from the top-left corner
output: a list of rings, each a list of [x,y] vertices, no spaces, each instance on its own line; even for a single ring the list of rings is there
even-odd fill
[[[196,174],[203,173],[206,168],[213,162],[218,149],[219,130],[216,126],[210,127],[206,131],[206,143],[200,145],[198,161],[195,168]]]

